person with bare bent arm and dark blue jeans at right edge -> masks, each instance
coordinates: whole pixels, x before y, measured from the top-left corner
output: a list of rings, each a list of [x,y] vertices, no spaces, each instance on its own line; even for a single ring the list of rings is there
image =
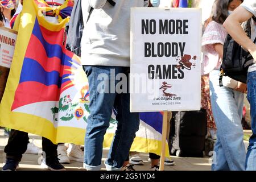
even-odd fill
[[[232,36],[234,40],[238,44],[240,44],[243,48],[247,49],[254,60],[256,60],[256,46],[253,43],[255,39],[255,22],[253,21],[254,26],[251,27],[251,40],[247,37],[245,32],[242,30],[240,23],[249,20],[251,17],[256,16],[256,1],[255,0],[245,0],[242,5],[238,7],[236,11],[232,15],[229,16],[228,19],[224,22],[224,27],[226,31]],[[245,169],[248,171],[256,171],[256,125],[255,125],[255,75],[256,75],[256,64],[254,63],[248,69],[247,73],[247,100],[250,102],[251,106],[251,129],[253,131],[253,135],[249,140],[249,147],[246,156],[246,164]]]

